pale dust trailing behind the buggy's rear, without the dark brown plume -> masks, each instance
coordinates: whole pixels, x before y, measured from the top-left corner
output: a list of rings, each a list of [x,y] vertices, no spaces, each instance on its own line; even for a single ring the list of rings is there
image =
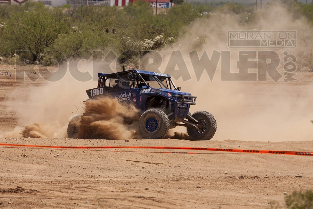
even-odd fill
[[[91,72],[92,68],[85,66],[85,69]],[[95,85],[97,81],[77,81],[69,71],[55,82],[43,78],[34,83],[22,82],[8,98],[8,110],[15,112],[18,127],[2,137],[67,137],[70,118],[83,113],[82,101],[88,98],[84,92]]]

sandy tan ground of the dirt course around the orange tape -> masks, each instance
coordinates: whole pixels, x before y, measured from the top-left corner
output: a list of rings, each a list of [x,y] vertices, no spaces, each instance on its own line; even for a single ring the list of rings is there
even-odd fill
[[[31,68],[28,70],[32,71]],[[312,75],[303,74],[301,78],[285,85],[286,91],[290,85],[296,89],[290,94],[291,99],[309,93],[307,89],[311,86]],[[22,85],[38,86],[43,82],[24,81],[21,84],[4,75],[0,77],[0,134],[12,131],[18,125],[16,113],[8,106],[18,107],[23,102],[12,101],[9,95]],[[267,83],[246,85],[246,91],[264,89],[250,94],[265,95],[263,98],[267,98],[264,92],[272,89],[272,84]],[[263,107],[245,107],[247,115],[255,108],[259,111]],[[220,133],[227,131],[219,130]],[[223,134],[217,133],[211,141],[0,138],[0,143],[313,151],[313,141],[309,140],[261,142],[229,139],[234,138],[223,138]],[[284,192],[290,194],[294,190],[312,189],[313,185],[313,158],[310,156],[208,151],[197,151],[203,154],[153,153],[162,151],[170,150],[0,148],[0,207],[275,208],[279,205],[278,208],[285,208]],[[302,177],[295,177],[299,175]],[[275,203],[271,204],[273,201]]]

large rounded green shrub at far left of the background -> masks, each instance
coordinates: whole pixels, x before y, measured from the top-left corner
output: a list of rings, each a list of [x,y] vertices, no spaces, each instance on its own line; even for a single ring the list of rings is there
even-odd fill
[[[39,53],[52,46],[58,35],[66,30],[67,18],[61,10],[55,8],[51,11],[42,7],[35,11],[11,13],[0,35],[10,53],[30,51],[32,57],[27,58],[35,61]]]

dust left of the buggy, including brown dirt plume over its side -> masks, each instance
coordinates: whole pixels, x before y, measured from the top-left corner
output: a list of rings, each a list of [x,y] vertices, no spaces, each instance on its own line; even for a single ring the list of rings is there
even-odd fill
[[[92,75],[92,68],[92,63],[80,63],[81,72]],[[107,97],[83,103],[88,99],[86,90],[96,87],[97,83],[77,81],[67,71],[60,81],[42,79],[30,86],[21,85],[8,99],[9,110],[17,115],[18,127],[1,137],[67,138],[69,121],[82,115],[78,138],[138,138],[136,123],[123,122],[123,118],[138,113],[135,107]]]

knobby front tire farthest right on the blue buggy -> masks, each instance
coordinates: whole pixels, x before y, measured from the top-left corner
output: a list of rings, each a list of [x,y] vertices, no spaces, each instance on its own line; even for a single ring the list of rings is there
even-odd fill
[[[193,118],[196,118],[199,123],[202,124],[202,131],[198,131],[195,128],[187,127],[187,133],[191,140],[210,140],[216,132],[216,120],[214,116],[206,111],[197,111],[192,114]]]

